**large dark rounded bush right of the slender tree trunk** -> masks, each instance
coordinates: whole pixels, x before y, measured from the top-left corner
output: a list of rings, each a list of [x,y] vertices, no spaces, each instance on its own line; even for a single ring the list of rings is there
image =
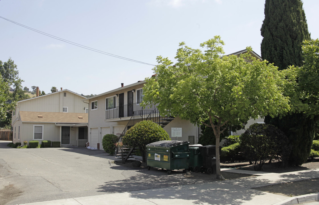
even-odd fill
[[[282,166],[286,166],[291,147],[288,138],[277,127],[269,124],[251,125],[241,136],[240,146],[244,157],[254,165],[254,170],[261,170],[265,161],[280,156]]]

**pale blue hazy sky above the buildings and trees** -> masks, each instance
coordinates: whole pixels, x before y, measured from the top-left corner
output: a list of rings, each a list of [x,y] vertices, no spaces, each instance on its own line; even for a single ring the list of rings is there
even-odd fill
[[[317,39],[319,1],[303,7]],[[11,57],[23,88],[90,95],[151,77],[156,57],[175,62],[182,41],[200,48],[220,35],[225,54],[251,46],[260,55],[264,0],[0,0],[0,17],[19,24],[0,18],[0,60]]]

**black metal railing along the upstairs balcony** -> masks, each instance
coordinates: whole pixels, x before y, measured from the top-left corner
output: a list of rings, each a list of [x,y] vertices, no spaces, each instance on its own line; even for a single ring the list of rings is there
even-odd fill
[[[151,113],[159,113],[157,109],[158,104],[152,104],[149,106],[140,106],[139,103],[132,103],[128,105],[117,106],[112,109],[107,109],[105,112],[106,119],[131,117],[131,116],[143,116]]]

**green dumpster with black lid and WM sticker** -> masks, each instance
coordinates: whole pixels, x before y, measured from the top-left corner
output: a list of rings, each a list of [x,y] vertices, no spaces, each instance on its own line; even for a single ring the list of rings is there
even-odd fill
[[[146,165],[148,170],[157,167],[167,170],[183,169],[185,173],[189,168],[189,142],[186,141],[158,141],[146,145]]]

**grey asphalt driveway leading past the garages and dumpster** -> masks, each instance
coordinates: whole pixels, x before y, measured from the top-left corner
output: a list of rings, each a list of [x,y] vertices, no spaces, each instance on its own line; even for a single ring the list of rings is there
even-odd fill
[[[214,175],[182,174],[114,163],[101,150],[13,149],[0,141],[0,205],[49,201],[214,181]]]

